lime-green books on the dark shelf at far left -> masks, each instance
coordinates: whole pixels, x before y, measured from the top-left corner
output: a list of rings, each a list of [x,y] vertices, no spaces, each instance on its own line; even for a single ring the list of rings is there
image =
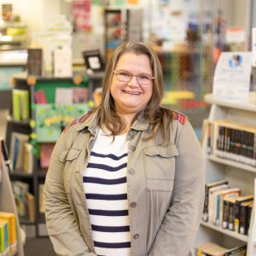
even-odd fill
[[[13,117],[16,121],[30,119],[30,105],[28,90],[12,90]]]

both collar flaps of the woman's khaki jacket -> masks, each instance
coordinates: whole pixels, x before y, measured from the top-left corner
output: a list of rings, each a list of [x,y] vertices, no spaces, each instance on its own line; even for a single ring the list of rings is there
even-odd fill
[[[76,127],[76,131],[82,131],[87,128],[92,134],[96,134],[96,127],[98,125],[98,113],[99,109],[96,109],[88,119],[83,123],[80,123]],[[148,121],[144,119],[143,113],[139,113],[137,120],[131,125],[131,129],[136,131],[144,131],[148,129]]]

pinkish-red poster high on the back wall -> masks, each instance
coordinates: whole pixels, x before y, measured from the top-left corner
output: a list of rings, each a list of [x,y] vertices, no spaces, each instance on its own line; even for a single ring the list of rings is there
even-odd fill
[[[72,14],[75,28],[90,30],[90,0],[73,0]]]

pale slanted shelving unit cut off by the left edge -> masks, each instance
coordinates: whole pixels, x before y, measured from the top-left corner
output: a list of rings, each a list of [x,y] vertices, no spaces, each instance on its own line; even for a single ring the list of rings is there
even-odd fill
[[[0,157],[2,158],[3,156],[0,155]],[[3,164],[2,166],[2,182],[0,182],[0,211],[13,212],[15,213],[17,218],[17,251],[12,253],[10,256],[24,256],[23,241],[25,242],[25,238],[21,237],[21,233],[23,234],[23,232],[21,232],[20,230],[19,216],[15,205],[15,197],[9,180],[9,174],[6,170],[5,165]]]

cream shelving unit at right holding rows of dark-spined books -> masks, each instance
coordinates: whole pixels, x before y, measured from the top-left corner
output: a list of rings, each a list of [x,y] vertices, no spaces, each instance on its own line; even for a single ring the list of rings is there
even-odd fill
[[[250,93],[247,103],[225,102],[214,99],[212,94],[205,96],[205,101],[211,104],[208,120],[230,119],[235,123],[254,125],[256,120],[256,95]],[[206,183],[216,180],[228,180],[231,187],[240,187],[241,195],[254,195],[254,179],[256,167],[226,160],[213,154],[207,154],[207,129],[202,141],[206,162]],[[255,149],[254,149],[255,150]],[[254,201],[255,204],[255,201]],[[255,207],[253,206],[248,236],[241,235],[232,230],[225,230],[208,222],[201,221],[201,227],[195,241],[195,247],[204,242],[211,241],[224,247],[238,247],[247,244],[247,256],[256,255]]]

